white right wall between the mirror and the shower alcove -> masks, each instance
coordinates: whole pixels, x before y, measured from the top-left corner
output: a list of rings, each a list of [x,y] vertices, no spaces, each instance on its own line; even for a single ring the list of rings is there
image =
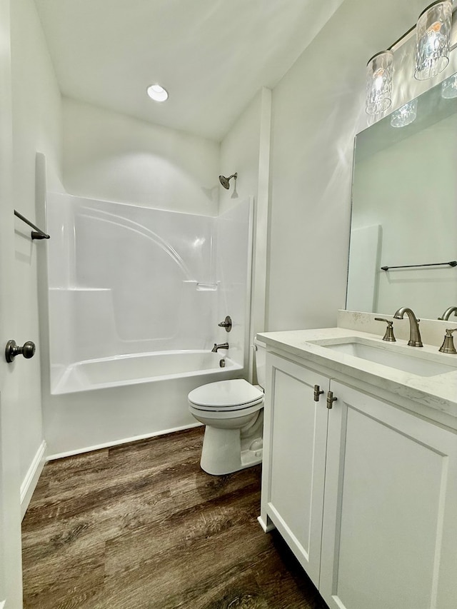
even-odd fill
[[[346,0],[273,90],[268,330],[336,325],[346,294],[353,136],[366,62],[423,0]]]

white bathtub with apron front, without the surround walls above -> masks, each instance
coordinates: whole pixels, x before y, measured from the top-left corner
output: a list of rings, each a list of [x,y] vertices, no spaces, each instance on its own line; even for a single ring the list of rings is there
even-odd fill
[[[44,392],[43,404],[48,458],[199,425],[189,413],[189,391],[243,376],[243,367],[224,355],[210,351],[136,353],[54,370],[54,382],[47,396]]]

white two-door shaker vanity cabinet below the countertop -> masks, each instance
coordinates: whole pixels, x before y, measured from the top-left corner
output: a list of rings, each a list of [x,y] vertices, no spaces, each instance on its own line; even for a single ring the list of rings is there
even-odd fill
[[[455,609],[456,433],[330,369],[267,364],[261,522],[331,609]]]

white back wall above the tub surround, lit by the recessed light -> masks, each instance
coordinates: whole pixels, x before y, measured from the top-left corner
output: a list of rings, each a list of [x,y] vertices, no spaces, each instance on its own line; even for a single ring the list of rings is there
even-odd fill
[[[219,144],[64,98],[70,194],[217,215]]]

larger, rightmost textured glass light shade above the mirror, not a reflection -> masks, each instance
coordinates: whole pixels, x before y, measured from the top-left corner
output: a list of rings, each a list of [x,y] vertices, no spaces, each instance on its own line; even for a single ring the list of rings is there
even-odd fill
[[[431,79],[449,63],[452,2],[433,2],[419,16],[416,26],[416,71],[418,81]]]

